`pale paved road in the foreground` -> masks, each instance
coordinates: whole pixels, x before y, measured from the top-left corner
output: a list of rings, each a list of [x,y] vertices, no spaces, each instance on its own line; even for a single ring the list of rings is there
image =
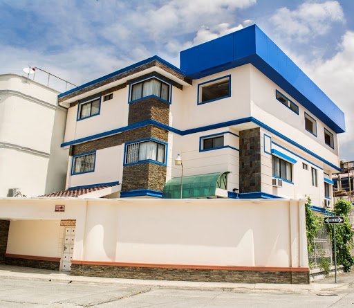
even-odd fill
[[[353,307],[354,287],[333,292],[198,291],[0,278],[0,307]]]

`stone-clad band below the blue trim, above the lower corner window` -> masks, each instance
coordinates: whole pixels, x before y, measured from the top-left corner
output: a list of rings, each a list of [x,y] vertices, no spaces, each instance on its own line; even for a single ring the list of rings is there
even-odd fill
[[[106,149],[106,147],[115,147],[116,145],[122,145],[123,143],[144,138],[156,138],[160,141],[167,142],[168,136],[169,132],[166,129],[162,129],[154,125],[147,125],[144,127],[131,129],[120,134],[107,136],[93,141],[87,141],[86,143],[80,143],[79,145],[73,145],[73,147],[71,147],[70,154],[77,155],[95,150],[102,150]]]

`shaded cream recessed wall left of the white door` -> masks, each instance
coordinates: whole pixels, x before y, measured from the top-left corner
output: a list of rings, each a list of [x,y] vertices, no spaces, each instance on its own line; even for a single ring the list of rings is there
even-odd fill
[[[59,239],[63,236],[57,220],[12,220],[6,253],[37,257],[61,257]]]

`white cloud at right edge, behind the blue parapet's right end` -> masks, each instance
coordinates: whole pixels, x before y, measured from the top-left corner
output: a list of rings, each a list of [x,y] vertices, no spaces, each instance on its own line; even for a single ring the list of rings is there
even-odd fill
[[[354,32],[342,37],[339,51],[328,60],[302,64],[306,74],[314,80],[346,116],[346,133],[339,134],[340,156],[354,159]]]

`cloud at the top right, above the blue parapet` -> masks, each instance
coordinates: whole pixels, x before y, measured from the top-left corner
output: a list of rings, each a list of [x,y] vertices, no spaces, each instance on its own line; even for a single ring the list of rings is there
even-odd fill
[[[334,22],[344,23],[344,12],[338,1],[302,3],[296,10],[279,8],[270,18],[275,31],[288,41],[308,42],[325,35]]]

